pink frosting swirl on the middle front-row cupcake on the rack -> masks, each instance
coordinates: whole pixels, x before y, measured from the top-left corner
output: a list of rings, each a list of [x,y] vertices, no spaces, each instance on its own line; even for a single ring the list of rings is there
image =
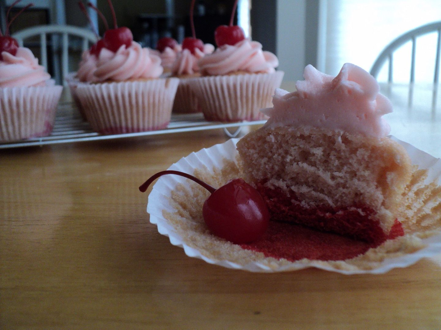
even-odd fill
[[[161,59],[133,41],[129,48],[122,45],[115,53],[103,48],[93,75],[97,81],[126,81],[157,78],[162,71]]]

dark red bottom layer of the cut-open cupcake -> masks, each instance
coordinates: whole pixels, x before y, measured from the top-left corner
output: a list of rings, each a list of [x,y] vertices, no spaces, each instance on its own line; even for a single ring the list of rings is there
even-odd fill
[[[295,195],[287,196],[280,188],[270,189],[258,184],[257,189],[265,199],[271,213],[271,219],[302,224],[304,226],[348,236],[366,242],[384,242],[387,234],[375,220],[374,209],[368,205],[344,207],[305,208],[292,203],[299,201]],[[360,214],[356,209],[361,209]]]

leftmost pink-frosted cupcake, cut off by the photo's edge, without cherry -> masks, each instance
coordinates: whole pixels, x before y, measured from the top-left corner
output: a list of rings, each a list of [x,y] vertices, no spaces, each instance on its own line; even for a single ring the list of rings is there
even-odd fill
[[[50,78],[28,48],[1,52],[1,142],[48,136],[52,132],[63,87],[55,86]]]

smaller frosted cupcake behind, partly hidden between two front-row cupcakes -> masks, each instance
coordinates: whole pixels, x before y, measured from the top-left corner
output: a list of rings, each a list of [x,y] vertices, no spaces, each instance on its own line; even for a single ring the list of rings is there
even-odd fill
[[[198,98],[190,88],[192,78],[200,77],[198,60],[214,51],[212,44],[204,44],[203,50],[194,48],[183,49],[176,56],[176,60],[172,66],[173,77],[179,78],[179,86],[176,91],[175,102],[173,103],[173,112],[176,113],[195,113],[200,112],[201,107]]]

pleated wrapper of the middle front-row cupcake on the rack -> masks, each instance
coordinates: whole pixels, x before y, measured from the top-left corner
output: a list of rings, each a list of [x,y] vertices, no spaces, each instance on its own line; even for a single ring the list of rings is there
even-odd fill
[[[178,78],[158,78],[82,84],[76,94],[96,132],[146,132],[168,126],[178,83]]]

